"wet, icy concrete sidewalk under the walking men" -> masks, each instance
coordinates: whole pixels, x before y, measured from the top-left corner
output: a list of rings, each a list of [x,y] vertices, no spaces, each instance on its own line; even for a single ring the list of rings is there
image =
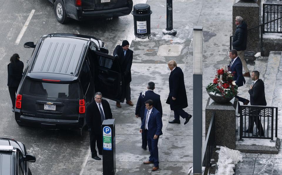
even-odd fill
[[[115,106],[115,101],[109,101],[116,121],[116,174],[188,174],[193,165],[193,118],[183,125],[170,124],[173,112],[165,103],[169,92],[168,78],[170,70],[169,60],[176,60],[184,72],[184,79],[188,97],[188,107],[184,109],[193,113],[193,26],[203,26],[203,144],[204,126],[208,94],[205,87],[212,82],[222,64],[229,63],[229,36],[232,33],[232,5],[233,0],[175,0],[173,1],[173,26],[177,30],[177,37],[162,36],[166,28],[166,1],[148,0],[151,6],[150,40],[133,40],[130,49],[134,51],[132,64],[131,97],[134,106],[123,103],[122,108]],[[132,20],[133,22],[133,20]],[[178,56],[158,56],[161,45],[178,45],[181,52]],[[111,48],[109,48],[110,50]],[[160,54],[160,53],[159,53]],[[165,55],[166,53],[162,53]],[[169,53],[167,53],[169,54]],[[177,54],[177,53],[176,53]],[[248,68],[254,69],[254,63]],[[141,134],[139,133],[141,120],[135,118],[135,105],[139,93],[146,91],[147,83],[155,82],[155,92],[160,94],[163,107],[163,133],[159,139],[160,169],[152,172],[151,165],[144,165],[150,155],[148,150],[141,149]],[[243,90],[244,89],[244,90]],[[240,95],[248,97],[248,86],[241,88]],[[246,154],[244,154],[246,155]],[[273,158],[274,159],[274,158]],[[91,155],[85,161],[82,173],[85,175],[102,174],[102,161],[96,161]],[[254,172],[254,171],[253,171]]]

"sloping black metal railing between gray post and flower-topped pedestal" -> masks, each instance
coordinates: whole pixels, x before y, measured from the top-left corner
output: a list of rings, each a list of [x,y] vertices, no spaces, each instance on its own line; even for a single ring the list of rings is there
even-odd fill
[[[206,137],[206,142],[204,146],[205,153],[202,157],[202,166],[211,166],[212,149],[215,145],[215,113],[212,113],[211,122],[209,123],[209,130]]]

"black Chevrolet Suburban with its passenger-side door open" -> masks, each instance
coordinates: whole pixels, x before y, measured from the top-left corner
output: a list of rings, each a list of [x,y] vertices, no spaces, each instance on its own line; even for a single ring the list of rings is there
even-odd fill
[[[23,73],[15,107],[19,125],[42,128],[83,128],[85,109],[95,92],[123,102],[125,86],[120,66],[104,42],[92,36],[42,36]]]

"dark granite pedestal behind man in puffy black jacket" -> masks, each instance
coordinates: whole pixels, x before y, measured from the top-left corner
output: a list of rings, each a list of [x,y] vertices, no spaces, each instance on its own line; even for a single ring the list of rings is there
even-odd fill
[[[235,17],[241,16],[250,28],[259,26],[261,24],[261,0],[243,2],[241,0],[235,1],[232,11],[232,35],[236,30]],[[260,28],[254,28],[248,31],[247,49],[245,51],[260,52]]]

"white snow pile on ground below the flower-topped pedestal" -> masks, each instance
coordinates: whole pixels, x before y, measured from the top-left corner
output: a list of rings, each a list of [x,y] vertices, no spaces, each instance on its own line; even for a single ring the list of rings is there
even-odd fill
[[[240,154],[240,151],[229,149],[226,147],[219,147],[220,150],[217,150],[216,152],[218,155],[218,170],[216,171],[216,175],[233,175],[235,165],[238,162],[243,162],[243,156]]]

